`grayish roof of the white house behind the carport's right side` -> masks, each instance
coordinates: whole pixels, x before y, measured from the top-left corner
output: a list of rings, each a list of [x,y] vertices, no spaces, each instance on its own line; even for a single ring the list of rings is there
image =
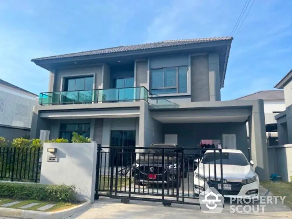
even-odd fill
[[[253,99],[284,100],[284,92],[279,90],[259,91],[240,97],[236,100],[253,100]]]

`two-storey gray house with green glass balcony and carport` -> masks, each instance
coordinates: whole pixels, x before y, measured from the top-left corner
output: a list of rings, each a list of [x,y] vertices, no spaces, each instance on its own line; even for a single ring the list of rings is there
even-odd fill
[[[232,40],[168,40],[33,59],[50,73],[31,137],[71,139],[75,131],[111,147],[196,148],[202,139],[220,140],[247,157],[251,147],[255,170],[267,180],[263,101],[221,101]]]

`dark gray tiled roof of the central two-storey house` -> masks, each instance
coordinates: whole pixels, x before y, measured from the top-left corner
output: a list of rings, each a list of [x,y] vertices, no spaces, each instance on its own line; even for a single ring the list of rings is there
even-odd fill
[[[131,46],[119,46],[119,47],[105,48],[105,49],[99,49],[99,50],[70,53],[70,54],[64,54],[64,55],[42,57],[42,58],[32,59],[31,61],[90,56],[90,55],[98,55],[98,54],[180,46],[180,45],[188,45],[188,44],[196,44],[196,43],[217,42],[217,41],[224,41],[224,40],[233,40],[233,37],[227,36],[227,37],[210,37],[210,38],[197,38],[197,39],[186,39],[186,40],[165,40],[165,41],[157,42],[157,43],[145,43],[145,44],[138,44],[138,45],[131,45]]]

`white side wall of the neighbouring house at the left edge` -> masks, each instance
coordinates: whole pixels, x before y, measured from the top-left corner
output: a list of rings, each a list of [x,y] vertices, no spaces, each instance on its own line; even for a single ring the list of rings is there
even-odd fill
[[[36,96],[0,85],[0,124],[30,128]]]

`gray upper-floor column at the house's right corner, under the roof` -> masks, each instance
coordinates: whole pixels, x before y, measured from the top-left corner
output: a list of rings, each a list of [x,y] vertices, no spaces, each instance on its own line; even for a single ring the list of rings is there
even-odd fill
[[[210,53],[208,55],[209,67],[209,95],[210,101],[220,101],[220,75],[219,75],[219,55]]]

